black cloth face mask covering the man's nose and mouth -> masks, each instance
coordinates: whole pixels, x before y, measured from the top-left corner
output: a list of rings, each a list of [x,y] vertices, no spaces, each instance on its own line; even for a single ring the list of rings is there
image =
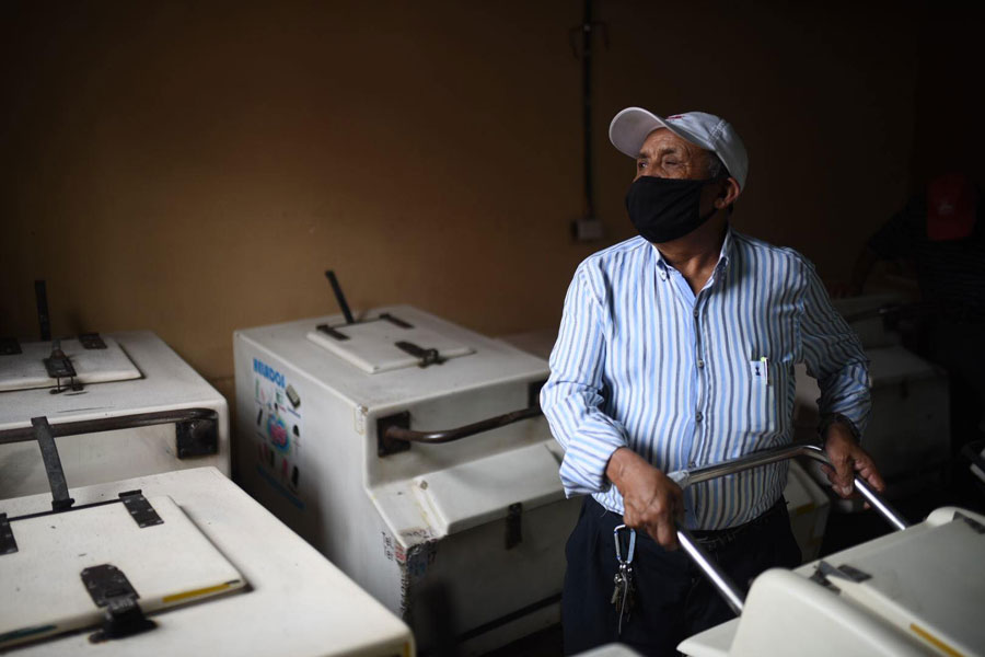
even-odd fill
[[[683,238],[711,218],[716,208],[702,217],[702,189],[714,178],[684,181],[649,175],[638,177],[626,193],[626,209],[633,226],[649,242]]]

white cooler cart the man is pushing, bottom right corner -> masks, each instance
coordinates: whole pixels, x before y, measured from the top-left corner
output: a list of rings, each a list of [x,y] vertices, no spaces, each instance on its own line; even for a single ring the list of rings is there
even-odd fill
[[[755,579],[742,615],[679,646],[691,657],[985,655],[985,517],[919,525]]]

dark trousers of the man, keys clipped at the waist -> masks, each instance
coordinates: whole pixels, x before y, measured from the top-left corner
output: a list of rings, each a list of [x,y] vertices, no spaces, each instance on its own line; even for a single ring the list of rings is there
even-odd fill
[[[801,554],[790,531],[784,500],[732,533],[728,542],[712,541],[706,549],[744,592],[767,568],[800,565]],[[612,604],[613,577],[618,569],[613,529],[622,516],[586,497],[581,516],[565,553],[568,569],[561,598],[565,654],[572,655],[612,642],[622,642],[644,655],[676,655],[688,636],[734,616],[718,590],[687,555],[669,552],[646,532],[636,537],[633,573],[636,603],[618,634]],[[714,538],[715,532],[709,532]]]

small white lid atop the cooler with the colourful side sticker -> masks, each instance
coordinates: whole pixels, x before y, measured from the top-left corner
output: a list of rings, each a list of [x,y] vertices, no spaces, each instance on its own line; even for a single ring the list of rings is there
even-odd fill
[[[323,331],[312,331],[308,334],[308,339],[370,374],[418,366],[420,358],[397,347],[399,342],[414,344],[421,349],[437,349],[438,355],[445,359],[475,353],[472,347],[433,328],[409,324],[402,326],[385,319],[332,326],[332,331],[347,339],[334,337]]]

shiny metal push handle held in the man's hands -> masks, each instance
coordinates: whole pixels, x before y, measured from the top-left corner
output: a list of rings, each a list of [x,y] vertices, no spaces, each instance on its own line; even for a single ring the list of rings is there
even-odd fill
[[[785,461],[795,457],[807,457],[814,461],[831,465],[827,454],[825,454],[824,450],[816,445],[791,445],[754,452],[745,457],[732,459],[731,461],[716,463],[715,465],[705,465],[697,470],[676,471],[669,474],[669,476],[677,482],[677,485],[683,489],[692,484],[735,474],[738,472],[751,470],[761,465],[768,465],[769,463],[776,463],[778,461]],[[909,523],[903,519],[893,507],[882,499],[861,477],[855,477],[855,487],[862,494],[862,497],[865,497],[866,500],[893,526],[893,528],[903,530],[909,527]],[[731,577],[715,563],[707,551],[698,544],[686,529],[677,527],[677,542],[692,561],[694,561],[702,572],[705,573],[705,576],[708,577],[711,584],[715,585],[728,606],[732,608],[732,611],[737,614],[741,614],[742,607],[745,603],[745,596],[739,590],[739,587],[735,586],[735,583],[732,581]]]

